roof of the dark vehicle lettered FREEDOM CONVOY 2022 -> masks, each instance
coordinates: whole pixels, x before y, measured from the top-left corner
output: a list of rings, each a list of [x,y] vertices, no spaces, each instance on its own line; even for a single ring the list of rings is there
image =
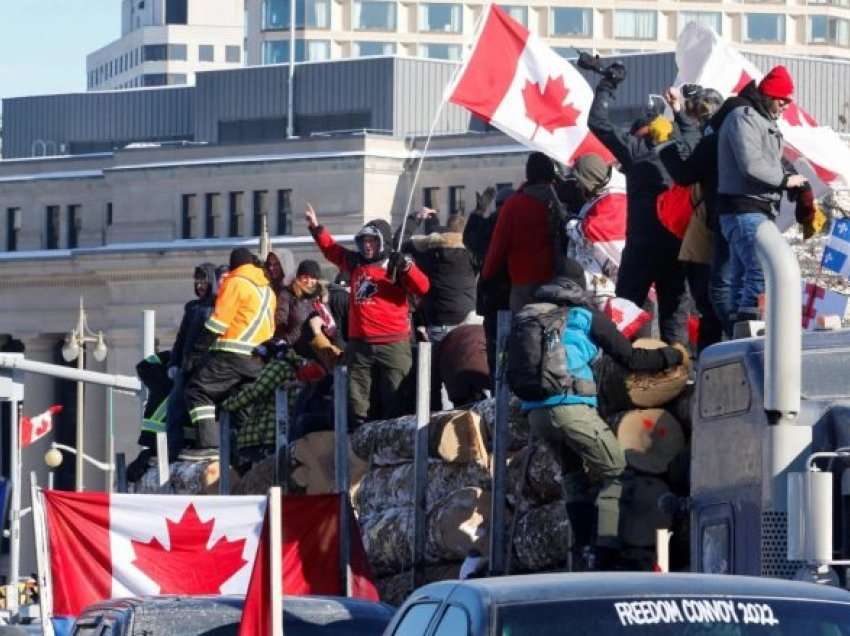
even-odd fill
[[[549,573],[441,581],[411,598],[474,594],[486,604],[653,596],[751,596],[850,603],[845,590],[782,579],[649,572]]]

